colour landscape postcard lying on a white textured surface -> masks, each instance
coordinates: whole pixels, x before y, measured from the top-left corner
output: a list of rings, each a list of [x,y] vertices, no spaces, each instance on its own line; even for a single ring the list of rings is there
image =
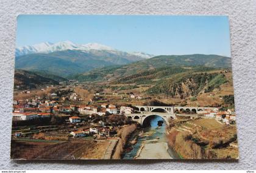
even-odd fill
[[[238,159],[229,18],[18,16],[10,157]]]

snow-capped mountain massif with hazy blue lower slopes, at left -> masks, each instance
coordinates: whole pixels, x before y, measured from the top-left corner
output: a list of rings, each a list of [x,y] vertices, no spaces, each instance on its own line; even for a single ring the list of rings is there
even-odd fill
[[[141,61],[154,55],[124,52],[98,43],[74,44],[70,41],[43,42],[16,49],[15,69],[46,72],[66,77],[89,70]]]

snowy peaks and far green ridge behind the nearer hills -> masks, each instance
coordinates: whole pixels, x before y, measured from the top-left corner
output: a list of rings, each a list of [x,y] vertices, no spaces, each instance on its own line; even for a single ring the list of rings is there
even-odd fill
[[[54,76],[100,80],[104,76],[129,76],[162,67],[231,67],[231,58],[219,55],[160,55],[124,52],[98,43],[43,42],[16,49],[15,69]],[[43,73],[42,73],[43,72]],[[62,78],[58,78],[60,76]]]

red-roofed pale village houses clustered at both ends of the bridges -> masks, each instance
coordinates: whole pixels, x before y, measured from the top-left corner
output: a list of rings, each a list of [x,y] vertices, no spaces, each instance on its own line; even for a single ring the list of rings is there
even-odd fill
[[[51,86],[53,87],[53,86]],[[49,86],[46,87],[48,89]],[[41,89],[43,90],[43,89]],[[30,91],[23,91],[23,94],[29,94]],[[60,93],[60,92],[59,92]],[[13,101],[13,121],[32,121],[35,119],[42,120],[45,118],[51,119],[52,117],[61,117],[65,120],[64,124],[76,124],[77,128],[74,131],[69,131],[69,135],[73,137],[86,137],[88,135],[99,135],[101,137],[110,137],[113,134],[113,127],[110,124],[104,122],[104,118],[108,115],[123,116],[124,118],[129,117],[129,114],[133,113],[143,113],[140,112],[137,107],[130,106],[116,106],[115,104],[101,103],[101,104],[81,104],[83,98],[79,97],[76,92],[71,92],[65,97],[60,97],[56,92],[48,93],[49,97],[41,98],[40,96],[35,96],[33,98],[26,98],[24,100],[14,100]],[[94,93],[93,100],[98,100],[102,93]],[[113,93],[112,95],[119,95],[119,93]],[[134,95],[129,93],[127,97],[131,100],[140,100],[142,97],[140,95]],[[47,99],[48,98],[48,99]],[[51,98],[51,99],[50,99]],[[72,101],[74,104],[66,104],[66,101]],[[69,102],[70,103],[70,102]],[[76,104],[77,103],[77,104]],[[235,123],[235,112],[227,109],[222,110],[219,108],[215,109],[205,109],[194,112],[194,110],[175,110],[175,114],[196,114],[198,117],[204,118],[215,118],[217,121],[234,124]],[[126,117],[124,116],[126,115]],[[98,117],[99,121],[91,121]],[[128,121],[128,120],[127,120]],[[132,123],[132,120],[129,121]],[[134,123],[134,122],[133,122]],[[79,128],[87,124],[87,129]],[[116,126],[123,125],[123,123],[118,124],[118,122],[113,122],[112,125]],[[29,124],[33,125],[33,124]],[[115,129],[115,128],[114,128]],[[26,134],[26,133],[25,133]],[[15,137],[26,136],[22,132],[13,133]]]

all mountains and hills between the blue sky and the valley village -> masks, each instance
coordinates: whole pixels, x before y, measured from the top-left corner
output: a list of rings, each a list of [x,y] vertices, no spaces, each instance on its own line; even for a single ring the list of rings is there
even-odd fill
[[[44,42],[16,49],[15,86],[32,89],[69,79],[118,84],[120,90],[144,85],[149,86],[145,93],[188,98],[219,90],[222,84],[231,86],[221,73],[230,68],[231,58],[219,55],[153,56],[101,44]]]

